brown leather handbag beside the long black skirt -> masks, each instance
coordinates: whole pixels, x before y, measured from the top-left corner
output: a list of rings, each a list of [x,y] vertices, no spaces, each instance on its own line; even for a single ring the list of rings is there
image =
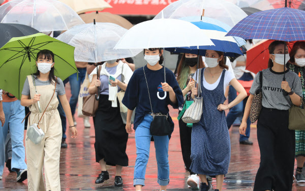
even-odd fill
[[[97,66],[98,67],[98,66]],[[98,70],[98,79],[100,78],[102,66]],[[99,88],[97,94],[100,95]],[[83,97],[82,113],[85,116],[94,117],[99,108],[99,100],[95,98],[95,94],[89,94]]]

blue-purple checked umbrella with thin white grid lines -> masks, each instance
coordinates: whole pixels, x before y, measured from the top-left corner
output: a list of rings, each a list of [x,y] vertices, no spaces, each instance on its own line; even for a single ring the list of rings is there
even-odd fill
[[[227,36],[287,42],[305,40],[305,11],[284,7],[256,12],[238,22]]]

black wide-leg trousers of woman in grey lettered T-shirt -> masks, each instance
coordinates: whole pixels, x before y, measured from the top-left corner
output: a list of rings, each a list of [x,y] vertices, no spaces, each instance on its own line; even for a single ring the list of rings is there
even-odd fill
[[[262,108],[257,122],[261,161],[254,190],[291,191],[295,132],[288,129],[289,111]]]

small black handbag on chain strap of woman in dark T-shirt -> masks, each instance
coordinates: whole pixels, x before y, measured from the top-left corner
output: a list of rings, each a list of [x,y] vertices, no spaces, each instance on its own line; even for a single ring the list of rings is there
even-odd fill
[[[153,118],[154,118],[153,121],[151,121],[151,123],[150,123],[150,134],[154,135],[154,136],[169,135],[171,133],[171,127],[170,127],[170,123],[167,121],[168,114],[167,115],[163,115],[161,113],[155,114],[153,112],[153,106],[151,106],[150,94],[149,94],[148,83],[147,83],[144,67],[143,67],[143,71],[144,71],[144,76],[145,76],[146,85],[147,85],[149,103],[150,103],[150,107],[151,107],[150,115],[153,116]]]

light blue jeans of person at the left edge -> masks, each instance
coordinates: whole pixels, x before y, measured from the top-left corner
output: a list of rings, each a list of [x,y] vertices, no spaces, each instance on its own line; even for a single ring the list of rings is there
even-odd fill
[[[24,138],[24,122],[25,117],[24,106],[20,105],[20,101],[3,102],[3,111],[5,114],[5,123],[2,126],[0,122],[0,176],[3,174],[5,163],[5,142],[10,129],[12,141],[12,171],[18,169],[26,169],[25,164],[25,149],[23,146]]]

